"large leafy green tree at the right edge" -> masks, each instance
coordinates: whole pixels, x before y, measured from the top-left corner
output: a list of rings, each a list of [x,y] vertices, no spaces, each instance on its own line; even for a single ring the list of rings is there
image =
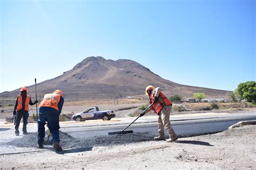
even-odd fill
[[[256,102],[256,81],[246,81],[238,85],[239,95],[249,102]]]

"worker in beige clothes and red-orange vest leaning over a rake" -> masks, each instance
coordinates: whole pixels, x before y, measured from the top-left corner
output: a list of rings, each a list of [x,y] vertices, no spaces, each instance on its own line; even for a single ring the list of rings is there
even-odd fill
[[[173,131],[170,123],[170,113],[172,109],[171,101],[161,92],[161,89],[157,87],[156,89],[149,85],[146,87],[146,95],[150,97],[151,110],[158,114],[158,137],[154,137],[155,140],[165,140],[164,127],[169,134],[169,139],[166,142],[173,142],[178,139],[177,135]],[[149,112],[147,110],[146,112]],[[145,113],[140,114],[143,116]]]

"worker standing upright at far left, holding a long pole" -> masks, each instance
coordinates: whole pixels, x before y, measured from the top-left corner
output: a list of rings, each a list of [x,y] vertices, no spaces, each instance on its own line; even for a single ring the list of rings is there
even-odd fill
[[[15,125],[15,135],[19,135],[19,123],[21,123],[21,119],[23,117],[23,134],[28,134],[26,131],[26,125],[28,124],[28,118],[29,118],[29,105],[35,105],[38,103],[37,100],[34,102],[31,101],[31,97],[27,95],[28,89],[26,87],[21,88],[21,95],[19,95],[16,99],[16,103],[14,106],[14,115],[16,115],[16,125]],[[17,112],[16,112],[17,110]]]

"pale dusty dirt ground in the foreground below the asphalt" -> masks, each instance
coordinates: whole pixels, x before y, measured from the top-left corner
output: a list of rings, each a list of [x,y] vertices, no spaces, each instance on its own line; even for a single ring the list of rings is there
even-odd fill
[[[221,133],[116,146],[83,146],[58,154],[51,148],[1,147],[3,169],[255,169],[255,125]],[[4,154],[5,152],[13,154]]]

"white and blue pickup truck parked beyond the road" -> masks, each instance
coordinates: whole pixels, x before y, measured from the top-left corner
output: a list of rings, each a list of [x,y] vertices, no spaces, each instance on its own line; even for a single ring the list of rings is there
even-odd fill
[[[113,110],[99,111],[97,106],[87,108],[85,111],[72,115],[72,119],[75,121],[95,120],[103,119],[110,120],[116,117]]]

